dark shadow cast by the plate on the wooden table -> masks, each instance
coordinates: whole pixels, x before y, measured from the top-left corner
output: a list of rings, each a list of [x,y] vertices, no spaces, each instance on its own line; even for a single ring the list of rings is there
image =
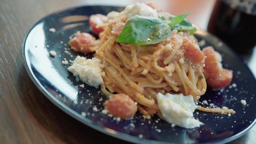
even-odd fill
[[[64,113],[38,90],[29,78],[24,66],[22,66],[21,74],[24,75],[19,76],[20,85],[18,88],[21,92],[20,99],[33,117],[31,117],[32,125],[37,127],[35,129],[39,129],[45,135],[50,134],[53,137],[58,137],[58,139],[67,143],[98,144],[111,142],[129,144],[128,142],[98,132]],[[24,77],[26,81],[21,77]],[[34,122],[33,119],[36,121]],[[47,132],[44,132],[44,129]],[[46,138],[48,137],[52,136],[46,136]]]

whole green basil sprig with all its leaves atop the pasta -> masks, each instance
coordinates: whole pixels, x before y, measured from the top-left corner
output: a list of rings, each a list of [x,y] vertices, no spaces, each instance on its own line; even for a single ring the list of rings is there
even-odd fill
[[[169,38],[171,30],[174,29],[193,34],[196,28],[185,19],[189,14],[180,14],[169,19],[161,15],[158,15],[158,18],[132,16],[127,20],[116,42],[134,45],[156,44]]]

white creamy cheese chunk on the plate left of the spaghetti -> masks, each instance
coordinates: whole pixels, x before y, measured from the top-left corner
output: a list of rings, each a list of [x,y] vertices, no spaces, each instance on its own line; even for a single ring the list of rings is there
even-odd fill
[[[86,59],[77,56],[68,71],[72,72],[74,76],[79,76],[79,79],[89,86],[98,88],[100,84],[103,84],[98,58]]]

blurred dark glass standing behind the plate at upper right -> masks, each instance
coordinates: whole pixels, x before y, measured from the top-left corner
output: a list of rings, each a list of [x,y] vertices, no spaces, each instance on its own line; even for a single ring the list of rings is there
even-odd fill
[[[254,10],[256,4],[251,3]],[[246,8],[232,8],[230,4],[217,0],[208,23],[208,31],[218,36],[231,48],[248,53],[256,45],[256,15],[246,13]]]

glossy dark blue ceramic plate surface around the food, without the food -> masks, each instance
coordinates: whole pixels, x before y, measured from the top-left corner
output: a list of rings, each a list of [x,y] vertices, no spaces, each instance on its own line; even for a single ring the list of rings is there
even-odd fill
[[[101,113],[106,96],[100,89],[90,86],[81,88],[78,78],[67,71],[68,66],[62,60],[74,60],[83,55],[68,50],[69,37],[76,31],[90,32],[88,18],[91,14],[107,14],[110,11],[122,11],[114,6],[82,6],[56,12],[37,22],[28,32],[23,45],[23,56],[30,78],[41,92],[56,106],[80,122],[110,136],[135,143],[226,143],[245,134],[256,118],[256,80],[242,59],[218,38],[198,30],[198,41],[205,40],[204,46],[213,46],[223,56],[223,66],[233,70],[231,84],[220,91],[207,89],[200,101],[208,100],[219,107],[233,108],[232,116],[194,112],[194,117],[204,123],[200,128],[172,128],[167,122],[154,116],[144,120],[137,113],[133,120],[120,122]],[[56,32],[49,32],[55,28]],[[202,42],[203,43],[203,42]],[[202,46],[202,47],[204,47]],[[67,49],[67,50],[66,50]],[[57,56],[49,55],[54,50]],[[92,55],[87,55],[91,57]],[[234,85],[233,85],[234,86]],[[246,100],[242,106],[240,100]],[[86,116],[85,116],[86,114]]]

